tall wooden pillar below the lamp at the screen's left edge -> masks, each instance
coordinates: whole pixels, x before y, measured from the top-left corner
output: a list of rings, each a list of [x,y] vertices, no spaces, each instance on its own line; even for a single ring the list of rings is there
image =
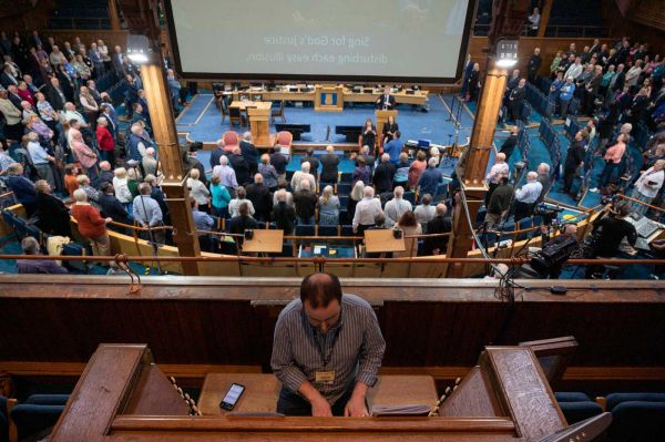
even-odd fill
[[[157,54],[152,54],[151,61],[141,69],[141,79],[150,103],[150,119],[164,174],[162,191],[175,228],[174,238],[178,256],[201,256],[198,235],[190,205],[190,192],[186,178],[183,176],[183,161],[177,143],[171,96]],[[186,276],[200,275],[198,263],[182,263],[182,268]]]

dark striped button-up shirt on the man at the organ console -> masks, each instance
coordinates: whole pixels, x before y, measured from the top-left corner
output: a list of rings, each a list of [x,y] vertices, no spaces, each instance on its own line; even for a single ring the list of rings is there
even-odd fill
[[[297,392],[309,381],[334,404],[356,382],[374,387],[385,350],[377,317],[364,299],[344,295],[339,320],[326,333],[309,323],[295,299],[277,319],[270,366],[288,390]],[[317,371],[334,371],[335,381],[316,383]]]

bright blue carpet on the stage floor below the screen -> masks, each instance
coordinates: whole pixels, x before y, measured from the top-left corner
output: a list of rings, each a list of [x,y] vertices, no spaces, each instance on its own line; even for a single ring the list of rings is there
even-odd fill
[[[209,94],[200,94],[198,99],[191,105],[194,110],[186,109],[177,123],[178,133],[188,132],[190,140],[214,143],[221,135],[231,130],[228,120],[221,123],[219,110],[211,105],[206,112],[201,115],[212,99]],[[441,96],[430,94],[429,112],[421,112],[412,109],[410,105],[398,106],[399,115],[397,122],[402,133],[402,140],[431,140],[437,144],[450,144],[454,138],[454,123],[446,121],[450,113],[446,107]],[[326,133],[330,127],[330,142],[344,143],[342,135],[335,134],[337,125],[359,125],[361,126],[367,119],[375,120],[374,107],[356,104],[355,107],[345,107],[344,112],[315,112],[314,107],[287,106],[285,110],[286,122],[289,124],[309,124],[311,132],[303,134],[301,143],[326,143]],[[198,124],[191,125],[196,119],[201,117]],[[472,120],[469,115],[464,116],[464,127],[460,130],[460,143],[466,143],[471,134]],[[241,132],[237,126],[235,131]],[[246,130],[246,129],[243,129]],[[275,131],[274,126],[272,131]]]

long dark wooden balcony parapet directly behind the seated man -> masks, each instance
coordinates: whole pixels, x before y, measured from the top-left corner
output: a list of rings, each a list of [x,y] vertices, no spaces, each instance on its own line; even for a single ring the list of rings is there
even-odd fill
[[[3,275],[0,311],[12,313],[0,321],[0,368],[8,361],[80,363],[100,342],[147,342],[158,363],[268,371],[277,313],[298,296],[300,281],[156,277],[143,278],[141,295],[127,295],[126,277],[78,277],[72,284],[68,276]],[[483,346],[560,336],[580,342],[571,362],[577,368],[620,367],[630,378],[631,367],[647,373],[665,367],[663,282],[566,285],[574,296],[534,289],[508,304],[494,298],[494,281],[342,280],[346,292],[376,308],[387,341],[385,367],[468,368]]]

